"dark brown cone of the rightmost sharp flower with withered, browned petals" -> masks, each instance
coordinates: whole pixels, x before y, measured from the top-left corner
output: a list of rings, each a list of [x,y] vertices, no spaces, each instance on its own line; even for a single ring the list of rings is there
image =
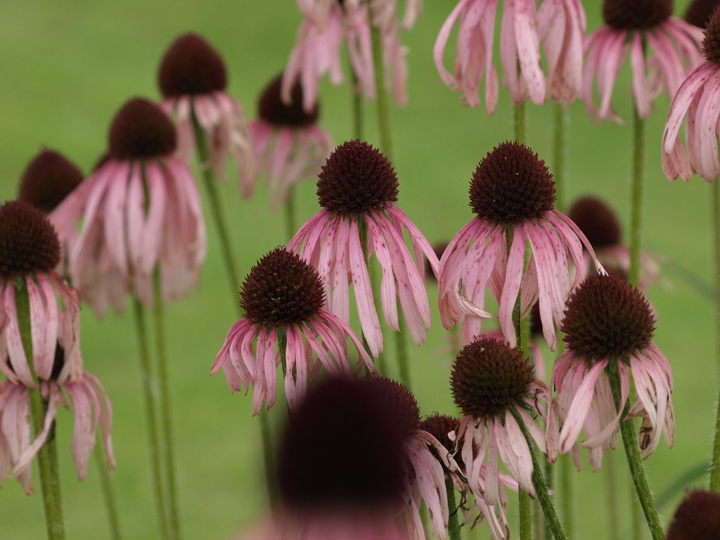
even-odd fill
[[[645,297],[621,277],[606,275],[588,277],[570,294],[562,320],[567,348],[591,361],[642,351],[654,326]]]

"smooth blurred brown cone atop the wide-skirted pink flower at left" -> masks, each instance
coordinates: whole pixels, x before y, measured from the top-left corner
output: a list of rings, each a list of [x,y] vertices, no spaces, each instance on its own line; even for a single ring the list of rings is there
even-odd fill
[[[160,107],[147,99],[130,99],[110,125],[109,154],[115,159],[167,156],[177,144],[175,126]]]

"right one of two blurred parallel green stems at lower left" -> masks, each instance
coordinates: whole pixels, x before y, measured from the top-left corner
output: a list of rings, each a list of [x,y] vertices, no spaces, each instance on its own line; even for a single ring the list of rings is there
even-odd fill
[[[177,480],[175,467],[175,445],[173,438],[172,406],[170,403],[170,376],[168,374],[168,355],[165,347],[165,320],[163,307],[162,282],[160,279],[160,266],[153,272],[154,315],[156,331],[156,353],[158,361],[158,381],[160,390],[160,417],[163,424],[163,438],[165,439],[165,480],[168,494],[168,516],[170,519],[171,538],[179,539],[180,512],[177,496]]]

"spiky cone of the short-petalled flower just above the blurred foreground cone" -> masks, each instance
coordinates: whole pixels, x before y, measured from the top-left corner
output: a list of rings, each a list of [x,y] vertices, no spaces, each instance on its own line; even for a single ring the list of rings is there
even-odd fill
[[[325,303],[318,271],[285,248],[276,248],[253,266],[240,291],[240,305],[253,324],[302,323]]]

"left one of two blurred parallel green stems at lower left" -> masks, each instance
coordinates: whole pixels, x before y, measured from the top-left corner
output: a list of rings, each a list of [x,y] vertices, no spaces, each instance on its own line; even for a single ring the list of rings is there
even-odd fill
[[[143,397],[145,398],[145,418],[148,420],[148,441],[150,441],[150,468],[153,474],[153,491],[155,492],[156,510],[160,520],[163,539],[170,536],[170,523],[167,514],[165,490],[163,489],[163,476],[160,463],[160,438],[158,436],[158,420],[156,408],[158,400],[157,384],[150,371],[150,344],[148,332],[145,328],[145,308],[137,298],[133,298],[135,305],[135,323],[140,341],[140,374],[143,377]]]

